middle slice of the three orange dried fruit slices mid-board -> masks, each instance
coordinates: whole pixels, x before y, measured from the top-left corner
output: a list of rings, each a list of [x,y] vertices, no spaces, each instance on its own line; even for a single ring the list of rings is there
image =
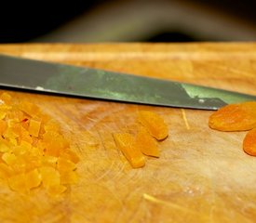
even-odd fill
[[[144,127],[139,129],[136,136],[136,147],[145,155],[159,157],[159,150],[155,138]]]

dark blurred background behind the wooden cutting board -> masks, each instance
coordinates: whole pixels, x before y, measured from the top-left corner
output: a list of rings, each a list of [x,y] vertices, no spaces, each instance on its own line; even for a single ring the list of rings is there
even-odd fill
[[[166,25],[162,26],[161,24],[165,23],[163,19],[161,19],[159,24],[155,20],[155,26],[151,29],[147,29],[146,32],[140,33],[140,28],[132,30],[132,23],[129,24],[129,33],[136,33],[134,37],[132,34],[126,36],[126,32],[121,30],[122,21],[120,21],[119,26],[120,36],[115,34],[116,28],[116,20],[118,20],[118,16],[115,17],[113,15],[113,24],[108,22],[107,25],[104,26],[104,20],[101,20],[101,11],[104,12],[104,15],[108,16],[109,14],[115,14],[117,11],[118,15],[118,7],[129,7],[128,11],[128,19],[134,19],[134,17],[138,15],[143,15],[144,10],[149,8],[150,3],[156,4],[158,2],[159,8],[161,10],[161,4],[166,4],[173,10],[172,4],[179,2],[178,9],[182,10],[191,9],[197,10],[197,12],[202,13],[200,20],[216,20],[216,26],[214,26],[215,30],[218,31],[218,26],[220,26],[220,33],[213,32],[210,33],[210,27],[205,25],[205,27],[196,24],[193,24],[191,21],[193,20],[193,16],[188,17],[187,19],[181,15],[179,18],[179,13],[175,20],[183,20],[183,22],[170,22],[167,15],[168,22]],[[134,11],[132,11],[132,4],[134,5]],[[138,7],[140,6],[140,7]],[[155,6],[155,5],[154,5]],[[177,7],[177,6],[176,6]],[[115,8],[115,10],[113,9]],[[153,7],[154,8],[154,7]],[[34,3],[26,2],[26,1],[4,1],[1,3],[0,7],[0,43],[21,43],[21,42],[193,42],[193,41],[254,41],[256,40],[256,1],[252,0],[243,0],[243,1],[231,1],[231,0],[182,0],[182,1],[125,1],[125,0],[112,0],[112,1],[103,1],[103,0],[94,0],[94,1],[86,1],[86,0],[72,0],[72,1],[34,1]],[[184,10],[185,10],[184,9]],[[151,9],[150,9],[151,10]],[[148,11],[150,11],[148,10]],[[133,13],[134,12],[134,13]],[[135,13],[137,12],[137,14]],[[150,15],[148,15],[151,13]],[[151,26],[151,22],[153,18],[156,18],[156,11],[152,11],[146,14],[150,20],[146,23],[146,19],[144,21],[144,26]],[[168,14],[167,10],[165,13]],[[171,13],[171,12],[170,12]],[[200,14],[199,13],[199,14]],[[123,13],[124,14],[124,13]],[[133,16],[134,14],[134,16]],[[196,17],[198,17],[198,13],[195,13]],[[89,15],[89,16],[88,16]],[[95,15],[95,16],[93,16]],[[104,16],[102,14],[102,17]],[[159,13],[157,14],[159,17]],[[209,16],[209,19],[207,15]],[[212,16],[213,15],[213,16]],[[170,15],[171,16],[171,15]],[[84,32],[90,32],[91,37],[87,37],[88,35],[82,33],[74,33],[74,24],[73,20],[78,23],[81,27],[83,21],[85,21],[85,26],[88,25],[88,18],[96,18],[95,21],[92,21],[89,24],[92,24],[90,30],[89,28],[85,28]],[[163,17],[164,18],[164,17]],[[92,19],[90,19],[92,20]],[[141,18],[138,18],[138,22]],[[211,20],[211,21],[210,21]],[[217,20],[219,23],[217,23]],[[223,20],[223,23],[222,21]],[[226,21],[228,20],[229,23]],[[65,28],[66,24],[69,24],[68,28]],[[125,21],[123,21],[124,27],[126,27]],[[196,22],[195,22],[196,23]],[[198,23],[198,22],[197,22]],[[171,25],[169,25],[171,24]],[[182,25],[185,24],[185,25]],[[187,25],[189,24],[189,25]],[[231,25],[229,25],[231,24]],[[195,32],[194,30],[195,25]],[[94,27],[93,27],[94,26]],[[221,28],[222,26],[222,28]],[[225,31],[223,27],[227,26],[227,28],[231,28],[232,32],[228,33]],[[64,27],[63,29],[61,27]],[[81,29],[77,26],[77,30]],[[105,30],[101,28],[101,32],[97,27],[107,27]],[[128,27],[128,25],[127,25]],[[134,27],[136,27],[136,22],[134,23]],[[241,28],[243,30],[241,30]],[[58,29],[62,29],[59,31]],[[240,33],[239,33],[239,30]],[[246,32],[245,32],[245,31]],[[55,31],[59,32],[59,35],[55,35]],[[223,34],[221,34],[223,31]],[[57,32],[57,33],[58,33]],[[93,33],[94,32],[94,33]],[[98,33],[97,33],[98,32]],[[104,38],[104,34],[108,33],[108,37]],[[65,33],[65,38],[59,38],[58,36],[63,36]],[[70,38],[68,34],[81,34],[80,39],[78,38]],[[113,37],[111,36],[113,34]],[[128,32],[127,32],[128,33]],[[203,34],[200,34],[203,33]],[[207,34],[205,34],[207,33]],[[215,34],[216,33],[216,34]],[[237,34],[236,34],[237,33]],[[248,33],[248,35],[246,35]],[[94,34],[94,35],[93,35]],[[241,34],[241,35],[240,35]],[[99,36],[102,37],[99,37]],[[46,36],[46,38],[44,37]],[[96,37],[94,37],[96,36]],[[99,38],[97,38],[99,37]],[[78,39],[78,40],[77,40]]]

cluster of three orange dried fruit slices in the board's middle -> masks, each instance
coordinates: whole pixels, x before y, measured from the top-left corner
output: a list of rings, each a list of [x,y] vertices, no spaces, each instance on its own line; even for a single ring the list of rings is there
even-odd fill
[[[145,165],[144,155],[159,157],[157,141],[168,137],[168,126],[155,112],[139,112],[138,122],[141,125],[136,136],[126,132],[114,134],[117,148],[123,152],[133,168]]]

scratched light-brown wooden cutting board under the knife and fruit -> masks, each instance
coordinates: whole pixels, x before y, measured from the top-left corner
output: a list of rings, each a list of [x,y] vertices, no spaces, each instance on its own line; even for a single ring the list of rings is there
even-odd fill
[[[129,72],[256,94],[256,44],[2,45],[29,59]],[[81,158],[80,180],[60,197],[20,195],[0,184],[1,222],[255,222],[256,157],[245,132],[209,129],[212,112],[10,92],[61,123]],[[112,134],[136,112],[161,115],[160,158],[132,169]]]

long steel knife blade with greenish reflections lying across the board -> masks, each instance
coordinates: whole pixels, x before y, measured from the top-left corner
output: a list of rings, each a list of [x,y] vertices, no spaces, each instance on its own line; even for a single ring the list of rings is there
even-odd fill
[[[132,74],[0,55],[0,86],[177,108],[218,110],[256,96]]]

